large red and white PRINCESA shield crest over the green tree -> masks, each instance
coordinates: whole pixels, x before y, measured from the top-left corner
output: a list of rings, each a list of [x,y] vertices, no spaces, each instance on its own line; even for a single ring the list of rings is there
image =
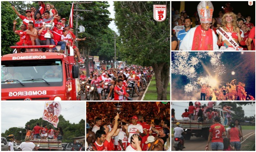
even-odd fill
[[[154,20],[162,22],[166,19],[166,5],[154,5]]]

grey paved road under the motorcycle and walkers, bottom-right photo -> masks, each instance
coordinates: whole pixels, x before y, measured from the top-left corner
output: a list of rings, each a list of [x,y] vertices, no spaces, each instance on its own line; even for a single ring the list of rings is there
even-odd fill
[[[253,134],[254,133],[254,134]],[[250,136],[252,135],[252,136]],[[247,151],[248,146],[251,142],[255,143],[255,130],[243,130],[244,142],[242,143],[241,151]],[[249,137],[250,136],[250,137]],[[248,138],[249,137],[249,138]],[[175,151],[173,148],[174,146],[174,139],[171,138],[171,151]],[[185,149],[183,151],[205,151],[205,146],[207,141],[202,137],[191,137],[189,141],[185,141]],[[209,151],[211,150],[211,145],[209,144]]]

